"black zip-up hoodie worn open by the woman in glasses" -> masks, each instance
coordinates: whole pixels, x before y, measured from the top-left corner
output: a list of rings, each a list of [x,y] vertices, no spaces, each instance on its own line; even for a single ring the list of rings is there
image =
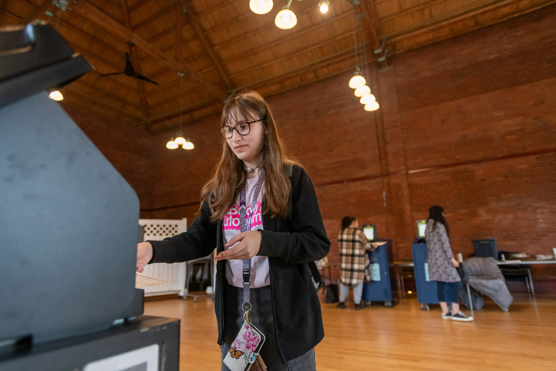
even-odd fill
[[[274,334],[283,363],[309,352],[324,337],[320,301],[306,263],[328,254],[326,236],[315,189],[309,175],[294,165],[291,169],[291,211],[287,218],[262,216],[261,256],[269,257],[270,291]],[[289,171],[288,171],[289,172]],[[263,206],[264,209],[264,206]],[[207,202],[187,232],[162,241],[149,241],[153,246],[150,263],[176,263],[203,258],[216,248],[224,251],[222,221],[211,222]],[[224,280],[225,260],[217,262],[215,312],[218,343],[224,344]]]

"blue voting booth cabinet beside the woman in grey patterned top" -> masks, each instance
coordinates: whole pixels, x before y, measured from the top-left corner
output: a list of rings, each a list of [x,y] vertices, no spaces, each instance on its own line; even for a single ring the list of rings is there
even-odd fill
[[[429,304],[438,304],[438,295],[436,281],[429,280],[426,244],[411,245],[411,253],[413,253],[417,301],[421,303],[421,308],[429,310]]]

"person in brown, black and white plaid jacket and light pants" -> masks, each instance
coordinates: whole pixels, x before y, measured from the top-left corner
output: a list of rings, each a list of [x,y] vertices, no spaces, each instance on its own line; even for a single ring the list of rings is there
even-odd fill
[[[373,251],[373,246],[359,228],[358,220],[353,216],[344,216],[342,229],[338,236],[340,245],[340,303],[337,308],[345,309],[349,287],[353,287],[353,301],[355,310],[363,309],[361,296],[363,282],[371,280],[369,255],[367,250]]]

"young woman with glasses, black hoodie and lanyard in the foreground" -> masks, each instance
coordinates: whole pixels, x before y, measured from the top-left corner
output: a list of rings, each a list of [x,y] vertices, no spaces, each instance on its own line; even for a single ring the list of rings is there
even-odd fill
[[[285,154],[259,93],[233,97],[221,121],[222,157],[198,217],[186,233],[138,244],[137,271],[216,248],[222,370],[243,371],[261,358],[270,371],[315,370],[324,330],[309,264],[330,250],[315,190]]]

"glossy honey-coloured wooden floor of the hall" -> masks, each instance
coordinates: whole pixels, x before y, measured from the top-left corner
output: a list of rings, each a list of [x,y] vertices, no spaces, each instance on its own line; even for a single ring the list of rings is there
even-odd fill
[[[556,370],[556,295],[514,296],[509,313],[485,299],[469,323],[440,318],[438,305],[423,311],[414,296],[360,311],[323,303],[317,370]],[[220,370],[213,305],[205,298],[145,303],[145,314],[181,319],[182,371]]]

